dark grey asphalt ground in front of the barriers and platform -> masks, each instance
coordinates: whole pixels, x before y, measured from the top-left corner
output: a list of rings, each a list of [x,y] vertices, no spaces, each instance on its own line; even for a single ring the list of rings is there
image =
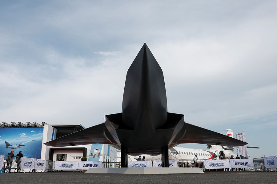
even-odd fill
[[[5,173],[0,174],[0,183],[277,183],[277,172],[205,172],[204,174],[84,174],[59,173]]]

